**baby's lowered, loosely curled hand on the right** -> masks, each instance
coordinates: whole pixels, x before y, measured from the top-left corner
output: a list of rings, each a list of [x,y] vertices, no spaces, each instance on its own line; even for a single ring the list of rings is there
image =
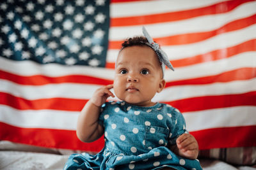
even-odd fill
[[[176,140],[179,155],[188,159],[196,159],[198,156],[198,143],[191,134],[182,134]]]

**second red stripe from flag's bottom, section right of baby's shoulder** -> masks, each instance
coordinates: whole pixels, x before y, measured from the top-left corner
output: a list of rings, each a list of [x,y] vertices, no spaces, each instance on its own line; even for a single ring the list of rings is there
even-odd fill
[[[179,108],[182,113],[234,106],[256,106],[256,92],[222,96],[191,97],[166,103],[175,108]]]

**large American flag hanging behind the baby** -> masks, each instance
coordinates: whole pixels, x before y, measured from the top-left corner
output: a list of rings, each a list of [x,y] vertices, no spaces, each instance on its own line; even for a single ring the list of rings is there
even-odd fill
[[[99,152],[103,138],[76,137],[79,111],[113,82],[122,40],[145,26],[175,67],[154,101],[182,112],[200,150],[256,146],[255,9],[252,0],[2,1],[0,140]]]

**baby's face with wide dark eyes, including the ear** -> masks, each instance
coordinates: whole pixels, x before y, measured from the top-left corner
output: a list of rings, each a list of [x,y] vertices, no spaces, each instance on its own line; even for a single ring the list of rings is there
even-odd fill
[[[124,48],[116,60],[116,97],[138,106],[153,106],[151,99],[163,90],[165,81],[156,52],[149,46]]]

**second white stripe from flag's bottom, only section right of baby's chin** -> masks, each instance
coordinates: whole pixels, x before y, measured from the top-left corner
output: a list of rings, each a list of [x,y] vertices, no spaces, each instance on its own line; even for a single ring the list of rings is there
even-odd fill
[[[168,87],[156,94],[153,101],[175,101],[190,97],[218,96],[225,94],[243,94],[256,91],[256,78],[228,83],[212,83],[209,85],[183,85]]]

